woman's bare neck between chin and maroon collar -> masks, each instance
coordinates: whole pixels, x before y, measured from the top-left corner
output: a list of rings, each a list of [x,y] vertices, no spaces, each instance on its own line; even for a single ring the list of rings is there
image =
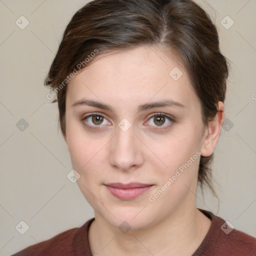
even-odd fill
[[[92,255],[192,255],[205,237],[210,219],[195,208],[180,205],[172,214],[142,230],[122,233],[95,212],[89,228]],[[184,207],[186,206],[186,207]]]

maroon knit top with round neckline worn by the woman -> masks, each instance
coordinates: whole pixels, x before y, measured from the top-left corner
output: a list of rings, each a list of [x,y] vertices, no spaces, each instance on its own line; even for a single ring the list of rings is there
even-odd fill
[[[199,210],[211,219],[211,225],[202,243],[191,256],[256,256],[255,237],[231,229],[222,218],[210,211]],[[80,228],[66,230],[11,256],[92,256],[88,229],[93,220],[91,218]]]

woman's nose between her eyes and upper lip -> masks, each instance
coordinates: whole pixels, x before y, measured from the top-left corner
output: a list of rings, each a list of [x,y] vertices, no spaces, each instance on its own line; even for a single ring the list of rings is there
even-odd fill
[[[109,163],[112,167],[129,171],[143,163],[143,143],[134,134],[133,126],[123,131],[116,127],[116,134],[111,139]]]

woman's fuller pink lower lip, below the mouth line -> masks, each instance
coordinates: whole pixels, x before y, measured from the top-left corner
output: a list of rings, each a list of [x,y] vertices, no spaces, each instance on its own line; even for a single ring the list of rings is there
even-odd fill
[[[112,186],[106,186],[106,187],[109,190],[109,192],[115,197],[122,200],[129,200],[143,194],[152,186],[153,185],[144,186],[144,187],[132,187],[132,188],[117,188]]]

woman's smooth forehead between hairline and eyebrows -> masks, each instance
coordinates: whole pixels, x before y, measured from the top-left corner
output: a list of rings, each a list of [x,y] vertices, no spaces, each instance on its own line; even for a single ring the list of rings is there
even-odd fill
[[[198,101],[183,66],[174,59],[152,46],[98,55],[68,83],[67,101],[90,96],[110,104],[163,96],[184,104]]]

